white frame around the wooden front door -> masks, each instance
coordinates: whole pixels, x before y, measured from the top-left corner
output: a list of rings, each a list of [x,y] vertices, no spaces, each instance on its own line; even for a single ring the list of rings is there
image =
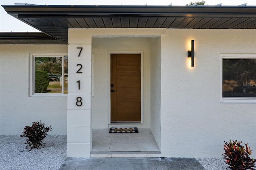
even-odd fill
[[[140,123],[144,123],[144,91],[143,91],[143,85],[144,85],[144,69],[143,69],[143,62],[144,62],[144,56],[143,51],[108,51],[108,124],[111,123],[111,99],[110,99],[110,75],[111,75],[111,54],[140,54]],[[122,123],[122,122],[121,122]],[[128,124],[129,122],[124,122],[124,124]]]

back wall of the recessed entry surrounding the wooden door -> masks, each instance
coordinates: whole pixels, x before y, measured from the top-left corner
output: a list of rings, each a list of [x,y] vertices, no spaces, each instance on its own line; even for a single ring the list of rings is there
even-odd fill
[[[94,97],[92,97],[92,128],[108,128],[108,57],[109,51],[129,53],[143,51],[144,76],[144,124],[139,128],[150,126],[150,38],[93,38],[92,53],[94,56]],[[111,125],[113,126],[113,125]],[[119,125],[120,126],[120,125]]]

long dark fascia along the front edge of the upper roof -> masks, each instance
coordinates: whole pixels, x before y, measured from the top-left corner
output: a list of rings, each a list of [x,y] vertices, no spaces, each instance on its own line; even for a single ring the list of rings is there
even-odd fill
[[[256,17],[256,6],[2,5],[16,18],[62,17]]]

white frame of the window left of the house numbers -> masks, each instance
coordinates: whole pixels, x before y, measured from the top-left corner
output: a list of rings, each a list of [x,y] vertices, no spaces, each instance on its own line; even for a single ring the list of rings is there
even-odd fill
[[[62,81],[62,93],[35,93],[35,57],[62,57],[62,78],[64,78],[64,56],[68,53],[30,53],[29,55],[29,97],[67,97],[64,94],[64,81]]]

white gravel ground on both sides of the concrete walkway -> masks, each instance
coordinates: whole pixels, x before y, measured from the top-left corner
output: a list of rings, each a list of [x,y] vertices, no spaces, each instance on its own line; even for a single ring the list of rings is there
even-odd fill
[[[66,136],[47,135],[44,148],[28,151],[26,137],[0,136],[0,170],[58,170],[66,159]],[[206,170],[226,170],[223,158],[197,159]]]

